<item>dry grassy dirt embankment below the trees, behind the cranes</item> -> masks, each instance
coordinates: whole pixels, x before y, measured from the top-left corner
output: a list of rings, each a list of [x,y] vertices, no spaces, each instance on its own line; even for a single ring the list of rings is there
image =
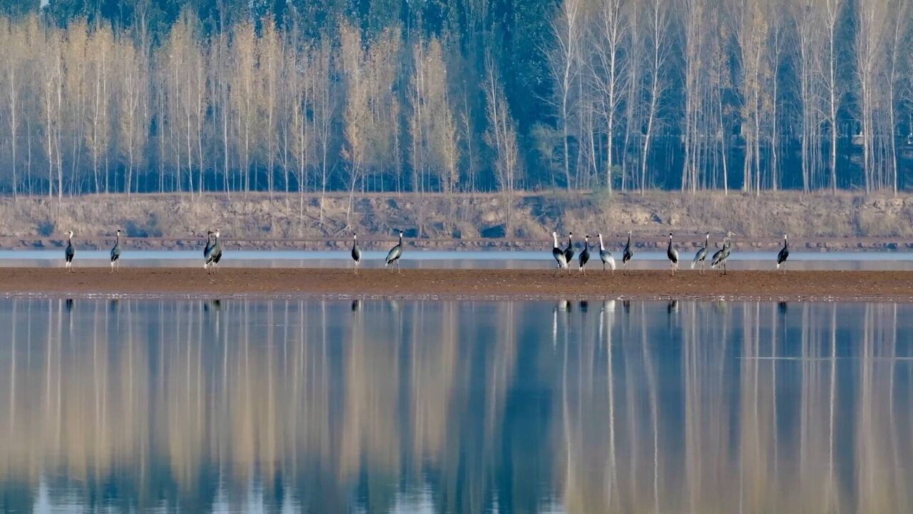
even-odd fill
[[[371,248],[373,241],[386,247],[402,228],[415,246],[436,248],[542,249],[552,230],[562,239],[568,231],[602,232],[615,245],[634,230],[642,248],[662,245],[670,231],[687,247],[708,230],[718,241],[733,231],[737,247],[775,247],[788,232],[795,248],[913,248],[913,196],[550,192],[514,198],[510,220],[501,195],[369,194],[348,207],[340,194],[5,198],[0,247],[58,247],[74,230],[82,248],[104,248],[120,228],[131,248],[196,248],[217,228],[236,248],[338,248],[352,230]]]

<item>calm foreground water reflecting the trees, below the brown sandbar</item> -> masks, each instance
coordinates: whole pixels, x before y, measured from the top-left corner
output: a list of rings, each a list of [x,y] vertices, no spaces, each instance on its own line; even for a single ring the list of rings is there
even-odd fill
[[[0,301],[16,512],[909,512],[913,305]]]

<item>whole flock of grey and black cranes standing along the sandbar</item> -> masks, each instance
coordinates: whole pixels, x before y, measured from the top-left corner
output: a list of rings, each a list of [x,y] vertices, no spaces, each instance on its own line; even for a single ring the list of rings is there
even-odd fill
[[[609,252],[605,249],[605,243],[603,242],[603,234],[597,234],[599,238],[599,260],[603,262],[603,272],[605,271],[606,266],[611,268],[612,272],[615,271],[615,258],[612,255],[612,252]],[[622,270],[623,273],[627,272],[628,262],[631,262],[634,259],[634,246],[631,244],[631,230],[628,230],[627,242],[624,243],[624,251],[622,252]],[[554,246],[551,249],[551,256],[557,262],[556,271],[558,273],[560,270],[567,270],[568,273],[571,273],[571,263],[573,262],[574,257],[574,247],[573,247],[573,232],[568,233],[568,245],[565,248],[561,248],[558,244],[558,232],[551,232],[551,238],[554,241]],[[695,254],[694,259],[691,260],[691,269],[698,269],[698,273],[704,273],[706,270],[707,256],[710,249],[710,232],[707,232],[704,236],[704,246],[700,247],[698,252]],[[710,258],[710,267],[714,269],[719,269],[719,273],[726,273],[726,261],[729,259],[729,254],[732,249],[732,232],[726,234],[723,237],[723,247],[715,252]],[[789,245],[786,241],[786,234],[783,234],[783,247],[780,252],[777,254],[777,269],[782,269],[783,273],[786,272],[786,259],[790,256]],[[73,259],[76,257],[76,249],[73,247],[73,230],[67,232],[67,248],[64,251],[65,266],[68,272],[73,271]],[[390,272],[393,273],[396,270],[399,273],[403,273],[403,269],[400,264],[400,258],[403,257],[403,230],[399,231],[399,241],[396,245],[390,249],[390,252],[387,252],[386,258],[383,260],[384,267],[389,268]],[[666,248],[666,257],[669,260],[669,264],[672,268],[672,275],[675,276],[678,271],[678,250],[676,249],[672,241],[672,232],[669,232],[669,244]],[[590,262],[590,236],[583,236],[583,249],[580,252],[580,257],[578,258],[578,271],[585,273],[586,265]],[[218,230],[207,230],[206,231],[206,245],[203,249],[203,268],[206,270],[206,273],[218,273],[218,264],[222,260],[222,243],[219,241],[219,231]],[[110,273],[119,273],[121,270],[121,230],[117,230],[116,239],[114,242],[114,247],[111,248],[110,252]],[[359,266],[362,263],[362,249],[358,246],[358,234],[352,234],[352,261],[355,262],[355,274],[358,274]]]

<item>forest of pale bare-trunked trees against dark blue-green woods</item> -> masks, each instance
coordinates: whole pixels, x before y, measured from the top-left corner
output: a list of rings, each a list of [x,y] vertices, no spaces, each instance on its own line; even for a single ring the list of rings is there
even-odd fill
[[[913,0],[0,0],[0,191],[913,187]]]

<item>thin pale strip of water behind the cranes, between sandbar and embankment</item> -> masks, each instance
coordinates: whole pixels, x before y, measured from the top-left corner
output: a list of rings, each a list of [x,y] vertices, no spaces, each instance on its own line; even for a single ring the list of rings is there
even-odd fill
[[[733,252],[729,258],[731,270],[774,269],[777,252]],[[142,267],[200,267],[203,252],[194,251],[125,251],[121,266]],[[386,252],[363,252],[362,267],[381,268]],[[681,268],[690,266],[693,252],[681,252]],[[614,255],[621,265],[620,252]],[[108,266],[109,252],[79,251],[75,265]],[[432,251],[410,250],[404,252],[404,268],[437,269],[552,269],[554,261],[550,252],[498,252],[498,251]],[[576,266],[577,260],[574,260]],[[635,270],[668,269],[666,252],[636,252],[630,266]],[[791,270],[862,270],[862,271],[913,271],[913,252],[796,252],[790,253]],[[2,267],[62,267],[62,250],[6,250],[0,251]],[[324,267],[352,266],[348,251],[231,251],[226,250],[220,263],[222,267]],[[600,269],[599,254],[593,252],[589,269]]]

